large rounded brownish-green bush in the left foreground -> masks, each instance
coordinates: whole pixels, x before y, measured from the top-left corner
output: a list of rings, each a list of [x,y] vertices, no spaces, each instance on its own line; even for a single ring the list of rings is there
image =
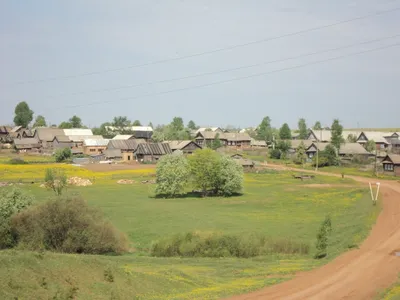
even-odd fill
[[[122,253],[125,235],[79,197],[58,198],[31,207],[11,219],[18,246],[67,253]]]

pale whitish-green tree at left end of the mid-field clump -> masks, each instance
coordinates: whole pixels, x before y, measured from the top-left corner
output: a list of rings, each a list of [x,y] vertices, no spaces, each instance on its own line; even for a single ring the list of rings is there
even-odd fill
[[[156,194],[174,197],[184,192],[189,178],[189,163],[182,152],[163,156],[157,163]]]

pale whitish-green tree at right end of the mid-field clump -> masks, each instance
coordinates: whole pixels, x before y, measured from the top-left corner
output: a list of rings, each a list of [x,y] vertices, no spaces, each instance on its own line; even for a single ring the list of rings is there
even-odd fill
[[[240,193],[243,188],[243,167],[234,159],[223,155],[220,157],[220,173],[216,190],[223,196]]]

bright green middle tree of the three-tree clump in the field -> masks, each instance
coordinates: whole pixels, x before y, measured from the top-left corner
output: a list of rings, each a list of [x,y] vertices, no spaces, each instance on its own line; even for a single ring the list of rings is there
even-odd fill
[[[195,151],[188,158],[193,185],[199,188],[203,195],[216,192],[221,164],[220,155],[209,148]]]

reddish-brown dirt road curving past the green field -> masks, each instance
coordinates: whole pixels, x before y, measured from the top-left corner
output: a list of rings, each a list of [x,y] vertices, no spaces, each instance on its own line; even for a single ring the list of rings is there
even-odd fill
[[[323,172],[318,174],[340,176]],[[371,181],[346,177],[366,184]],[[364,300],[373,299],[379,291],[394,283],[400,273],[400,257],[393,255],[395,250],[400,249],[400,183],[380,182],[383,210],[360,249],[346,252],[319,269],[300,273],[293,280],[230,299]]]

